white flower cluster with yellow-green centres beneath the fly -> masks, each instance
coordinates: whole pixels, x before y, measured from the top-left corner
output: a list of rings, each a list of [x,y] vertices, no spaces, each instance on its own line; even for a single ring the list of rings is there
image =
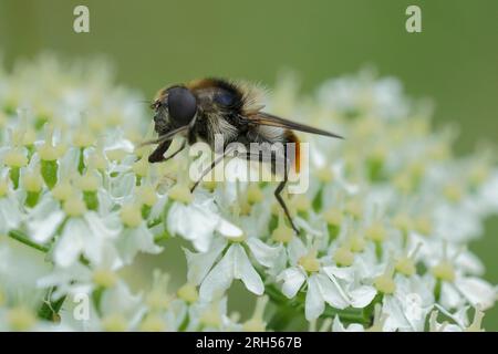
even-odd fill
[[[0,73],[0,330],[481,330],[497,289],[466,246],[498,211],[496,162],[452,156],[397,81],[277,85],[271,112],[346,137],[303,136],[310,188],[286,197],[299,236],[272,184],[190,194],[186,155],[148,164],[139,98],[98,63]],[[172,237],[191,244],[185,284],[157,271],[134,293],[121,270]],[[250,319],[227,312],[234,280],[259,296]]]

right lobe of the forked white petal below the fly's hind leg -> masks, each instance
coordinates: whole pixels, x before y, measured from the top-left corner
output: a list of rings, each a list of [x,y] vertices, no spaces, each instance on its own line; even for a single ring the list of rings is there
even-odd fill
[[[250,292],[257,295],[262,295],[264,285],[262,283],[261,277],[259,277],[258,272],[252,267],[243,248],[240,244],[236,243],[230,247],[228,252],[230,251],[234,252],[235,279],[240,279]]]

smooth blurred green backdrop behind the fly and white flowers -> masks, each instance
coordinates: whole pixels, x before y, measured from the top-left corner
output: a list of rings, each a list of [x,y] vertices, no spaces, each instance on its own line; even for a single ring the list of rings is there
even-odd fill
[[[90,33],[73,32],[77,4],[90,8]],[[422,8],[422,33],[405,31],[408,4]],[[0,0],[7,66],[43,51],[65,59],[105,55],[118,81],[147,97],[208,75],[271,86],[282,69],[295,71],[307,92],[371,64],[400,77],[409,95],[432,98],[437,126],[460,127],[459,154],[498,137],[496,0]],[[486,278],[498,283],[498,218],[488,220],[473,249],[487,266]],[[169,256],[164,268],[178,267],[179,254]],[[498,306],[485,326],[498,330]]]

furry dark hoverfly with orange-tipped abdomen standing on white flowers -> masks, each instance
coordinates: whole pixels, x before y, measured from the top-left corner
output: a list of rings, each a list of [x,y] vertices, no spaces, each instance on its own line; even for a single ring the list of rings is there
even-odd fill
[[[214,148],[216,134],[222,135],[225,146],[230,143],[241,143],[247,146],[248,152],[250,152],[249,144],[251,143],[282,143],[282,145],[294,143],[297,147],[295,156],[298,157],[299,139],[292,131],[342,138],[340,135],[262,112],[263,106],[258,105],[251,90],[241,84],[218,79],[198,80],[185,85],[163,88],[151,107],[155,112],[154,128],[158,138],[145,142],[143,145],[158,145],[148,156],[149,163],[168,160],[181,152],[187,144],[193,145],[199,140]],[[180,147],[165,157],[164,154],[177,135],[184,137]],[[288,181],[289,167],[294,163],[286,152],[281,152],[286,166],[283,178],[274,190],[274,197],[293,230],[299,233],[281,197],[281,191]],[[216,158],[208,169],[203,171],[201,177],[191,187],[191,191],[204,176],[212,170],[224,157],[228,156],[228,153],[229,150],[225,149],[222,155]],[[261,162],[260,155],[255,156],[250,153],[237,157]],[[273,163],[274,159],[272,158],[271,162]]]

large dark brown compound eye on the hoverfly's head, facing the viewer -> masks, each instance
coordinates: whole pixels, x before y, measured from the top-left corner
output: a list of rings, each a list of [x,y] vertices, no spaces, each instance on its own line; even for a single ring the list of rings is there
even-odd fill
[[[169,88],[168,111],[175,125],[188,125],[197,112],[196,96],[186,87]]]

